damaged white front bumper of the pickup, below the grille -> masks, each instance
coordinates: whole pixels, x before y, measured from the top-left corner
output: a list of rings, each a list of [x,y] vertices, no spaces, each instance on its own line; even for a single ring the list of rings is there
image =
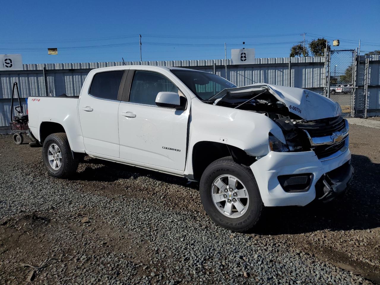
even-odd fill
[[[313,151],[272,151],[255,161],[250,168],[265,206],[305,206],[315,198],[322,198],[327,192],[328,194],[322,199],[329,201],[347,188],[353,171],[341,174],[340,171],[334,172],[333,170],[346,163],[350,166],[350,160],[351,152],[348,149],[347,137],[342,149],[321,160]],[[351,166],[349,168],[352,169]],[[311,185],[306,192],[286,192],[278,179],[278,176],[306,173],[312,174]],[[323,183],[323,180],[328,182],[329,187]],[[320,190],[321,183],[323,184],[322,190]]]

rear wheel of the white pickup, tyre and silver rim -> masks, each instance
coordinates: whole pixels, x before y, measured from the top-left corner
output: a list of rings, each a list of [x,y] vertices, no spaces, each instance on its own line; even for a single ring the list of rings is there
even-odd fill
[[[57,178],[68,178],[78,168],[65,133],[49,135],[43,144],[42,158],[47,173]]]

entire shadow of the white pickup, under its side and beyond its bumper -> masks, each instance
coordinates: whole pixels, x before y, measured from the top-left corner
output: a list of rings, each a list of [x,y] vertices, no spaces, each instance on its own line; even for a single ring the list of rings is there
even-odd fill
[[[380,226],[380,164],[363,155],[352,155],[354,178],[347,193],[330,203],[312,202],[304,207],[268,207],[252,232],[256,234],[299,234],[317,230],[363,230]],[[88,163],[91,166],[88,166]],[[89,158],[73,180],[114,182],[119,179],[147,176],[198,191],[196,183],[134,166]],[[137,183],[137,182],[136,182]],[[191,202],[189,202],[191,203]],[[203,209],[199,209],[203,211]]]

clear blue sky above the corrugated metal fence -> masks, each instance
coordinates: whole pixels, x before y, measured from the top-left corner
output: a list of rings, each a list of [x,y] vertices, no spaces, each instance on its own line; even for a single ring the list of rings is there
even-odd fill
[[[4,7],[5,5],[2,4]],[[340,48],[380,49],[380,1],[13,1],[0,18],[0,54],[23,63],[224,58],[254,47],[256,57],[287,57],[318,38]],[[5,13],[6,12],[6,13]],[[47,55],[58,47],[58,55]]]

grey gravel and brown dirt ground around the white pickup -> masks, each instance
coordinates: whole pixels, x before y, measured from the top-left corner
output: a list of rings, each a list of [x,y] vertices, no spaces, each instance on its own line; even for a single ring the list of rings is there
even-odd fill
[[[380,130],[350,127],[350,192],[268,208],[249,234],[184,179],[92,158],[53,179],[40,148],[1,136],[0,284],[380,284]]]

